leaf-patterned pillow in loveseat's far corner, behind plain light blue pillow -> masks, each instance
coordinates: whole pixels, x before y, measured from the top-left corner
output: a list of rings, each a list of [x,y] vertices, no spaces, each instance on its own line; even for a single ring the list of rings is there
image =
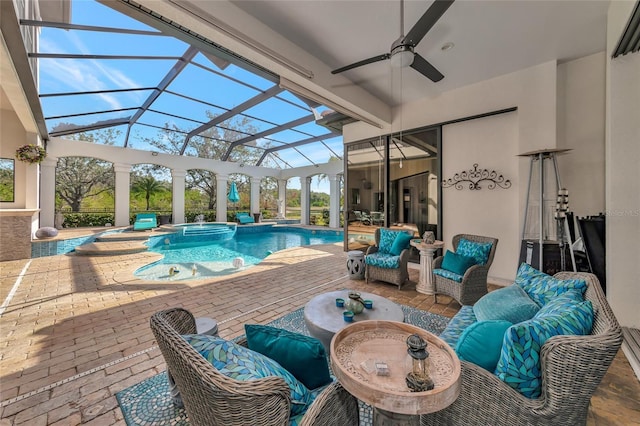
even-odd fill
[[[540,306],[544,306],[561,294],[582,300],[587,289],[587,283],[584,280],[559,280],[526,263],[522,263],[518,268],[516,284]]]

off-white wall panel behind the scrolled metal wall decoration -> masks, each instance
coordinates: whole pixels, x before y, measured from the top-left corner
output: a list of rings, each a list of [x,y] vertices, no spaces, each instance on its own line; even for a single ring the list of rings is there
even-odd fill
[[[492,117],[444,126],[442,129],[442,178],[470,170],[474,163],[479,169],[495,170],[511,181],[511,187],[496,186],[488,189],[442,189],[444,209],[443,238],[445,247],[453,250],[451,239],[455,234],[475,234],[498,239],[498,247],[490,276],[494,281],[509,283],[515,276],[520,250],[518,224],[517,140],[518,113],[511,112]],[[526,181],[525,181],[526,183]],[[454,207],[451,207],[454,206]]]

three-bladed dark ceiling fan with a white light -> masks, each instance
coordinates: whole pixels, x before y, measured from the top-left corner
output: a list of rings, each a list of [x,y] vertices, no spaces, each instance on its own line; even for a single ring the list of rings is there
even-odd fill
[[[435,0],[429,9],[420,17],[418,22],[411,28],[409,33],[404,35],[404,0],[400,0],[400,37],[391,44],[391,51],[383,55],[374,56],[351,65],[331,71],[331,74],[338,74],[363,65],[372,64],[378,61],[391,59],[391,65],[404,68],[411,66],[414,70],[423,74],[433,82],[440,81],[444,75],[433,65],[427,62],[420,54],[413,49],[420,43],[427,32],[435,25],[442,15],[449,9],[454,0]]]

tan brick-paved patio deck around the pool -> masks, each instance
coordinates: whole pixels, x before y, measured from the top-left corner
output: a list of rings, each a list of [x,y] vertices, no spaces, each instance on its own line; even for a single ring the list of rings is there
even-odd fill
[[[59,238],[87,232],[63,230]],[[267,323],[343,288],[447,317],[460,308],[449,297],[436,304],[417,293],[417,266],[401,290],[350,280],[341,244],[283,250],[224,277],[179,283],[134,277],[157,256],[71,253],[0,262],[0,426],[124,425],[115,393],[165,370],[149,318],[168,307],[215,318],[225,338],[242,334],[245,323]],[[620,352],[592,398],[588,425],[640,425],[637,395],[640,382]]]

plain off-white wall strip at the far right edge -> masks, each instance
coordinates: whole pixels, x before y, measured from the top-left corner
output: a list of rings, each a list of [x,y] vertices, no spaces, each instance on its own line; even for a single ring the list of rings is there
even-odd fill
[[[611,59],[635,2],[611,2],[607,22],[607,298],[640,328],[640,53]]]

